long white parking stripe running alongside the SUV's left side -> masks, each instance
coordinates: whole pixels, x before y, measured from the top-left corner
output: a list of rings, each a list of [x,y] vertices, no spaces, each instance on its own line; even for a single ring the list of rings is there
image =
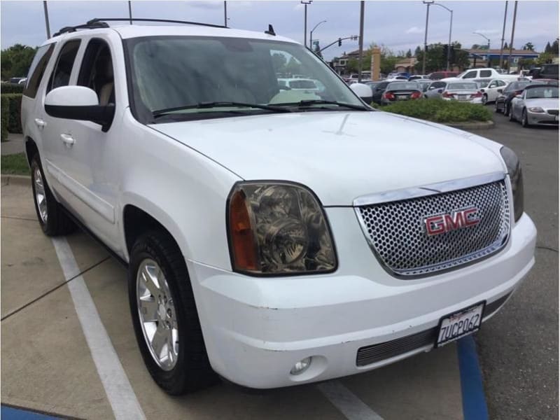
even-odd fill
[[[80,273],[76,259],[65,238],[52,238],[60,266],[67,279]],[[111,339],[103,326],[90,291],[85,286],[83,277],[77,276],[68,283],[76,314],[90,347],[97,373],[102,381],[107,398],[117,420],[146,419],[142,408],[130,386],[123,365],[111,344]]]

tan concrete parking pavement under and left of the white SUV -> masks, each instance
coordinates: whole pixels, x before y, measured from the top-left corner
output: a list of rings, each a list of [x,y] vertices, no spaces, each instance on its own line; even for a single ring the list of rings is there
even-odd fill
[[[113,418],[55,248],[36,221],[29,186],[1,188],[1,228],[2,402]],[[455,344],[335,381],[353,398],[346,404],[358,403],[368,416],[343,414],[340,401],[315,384],[262,395],[218,384],[170,397],[151,379],[138,350],[126,270],[81,232],[66,240],[146,419],[463,419]]]

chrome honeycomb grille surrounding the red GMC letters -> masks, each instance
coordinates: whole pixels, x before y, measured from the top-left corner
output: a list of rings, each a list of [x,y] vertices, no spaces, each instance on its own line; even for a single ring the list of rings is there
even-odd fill
[[[477,225],[428,236],[428,216],[476,207]],[[484,258],[505,245],[510,204],[503,180],[409,200],[357,207],[377,259],[391,274],[417,277]]]

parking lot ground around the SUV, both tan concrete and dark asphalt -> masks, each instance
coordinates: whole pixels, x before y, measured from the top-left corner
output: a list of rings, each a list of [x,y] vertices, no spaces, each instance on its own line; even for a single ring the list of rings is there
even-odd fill
[[[525,209],[539,237],[532,272],[477,333],[486,402],[491,419],[553,419],[558,412],[558,130],[523,129],[500,115],[495,120],[495,128],[473,133],[510,146],[521,158]],[[71,289],[83,281],[109,337],[110,348],[102,350],[122,366],[147,419],[463,418],[456,344],[318,385],[247,393],[221,383],[169,397],[152,381],[137,349],[124,268],[81,232],[54,242],[45,237],[30,187],[13,179],[2,181],[1,229],[3,404],[54,416],[135,417],[119,411],[119,395],[106,391],[107,378],[92,357],[95,343],[84,333]],[[64,255],[76,260],[74,271],[61,261],[65,241],[70,254]]]

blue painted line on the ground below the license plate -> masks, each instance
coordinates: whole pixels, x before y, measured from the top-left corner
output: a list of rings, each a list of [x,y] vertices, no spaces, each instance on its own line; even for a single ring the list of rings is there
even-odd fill
[[[488,408],[482,386],[482,372],[478,364],[477,348],[471,335],[457,341],[461,394],[465,420],[488,420]]]

